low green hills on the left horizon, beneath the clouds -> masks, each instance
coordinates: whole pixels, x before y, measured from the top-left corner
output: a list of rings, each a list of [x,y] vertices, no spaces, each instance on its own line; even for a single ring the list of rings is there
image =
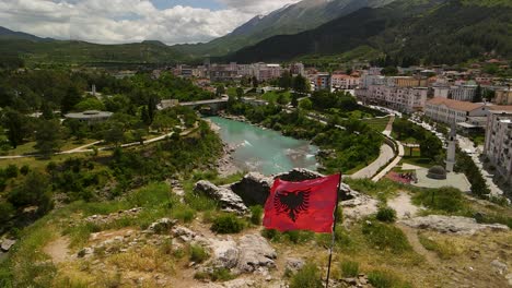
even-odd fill
[[[98,45],[85,41],[0,39],[0,55],[12,55],[13,51],[27,64],[175,63],[185,60],[182,53],[159,41]]]

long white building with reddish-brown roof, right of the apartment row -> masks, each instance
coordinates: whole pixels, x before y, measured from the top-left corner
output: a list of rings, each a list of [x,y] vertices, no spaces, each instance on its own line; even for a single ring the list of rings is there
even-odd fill
[[[434,121],[446,124],[476,121],[477,118],[485,121],[489,115],[489,106],[435,97],[427,101],[424,115]]]

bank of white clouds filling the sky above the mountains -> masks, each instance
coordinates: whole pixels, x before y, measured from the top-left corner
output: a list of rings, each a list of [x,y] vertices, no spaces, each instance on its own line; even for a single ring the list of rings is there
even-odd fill
[[[218,0],[225,9],[176,5],[158,10],[149,0],[0,0],[0,26],[42,37],[102,44],[208,41],[255,14],[298,0]]]

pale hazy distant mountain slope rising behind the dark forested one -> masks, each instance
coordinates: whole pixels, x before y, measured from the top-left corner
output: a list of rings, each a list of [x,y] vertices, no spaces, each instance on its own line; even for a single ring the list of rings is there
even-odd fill
[[[256,16],[232,33],[210,43],[177,45],[191,56],[223,56],[275,35],[291,35],[315,28],[328,21],[365,7],[382,7],[395,0],[304,0],[283,7],[266,16]]]

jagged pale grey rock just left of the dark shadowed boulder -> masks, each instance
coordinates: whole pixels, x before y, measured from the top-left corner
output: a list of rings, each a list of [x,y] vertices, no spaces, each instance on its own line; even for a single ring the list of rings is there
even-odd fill
[[[206,195],[217,200],[221,208],[225,212],[234,212],[238,214],[248,213],[241,196],[225,187],[217,187],[209,181],[201,180],[196,183],[195,192],[205,193]]]

